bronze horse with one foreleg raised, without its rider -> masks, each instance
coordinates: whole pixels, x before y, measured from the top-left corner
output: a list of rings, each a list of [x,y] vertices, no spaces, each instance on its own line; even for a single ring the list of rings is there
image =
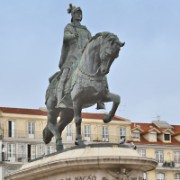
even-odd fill
[[[43,140],[48,144],[52,137],[56,139],[56,150],[63,150],[61,134],[73,120],[76,125],[76,145],[84,145],[81,135],[81,111],[97,102],[113,102],[111,111],[104,115],[104,123],[111,121],[120,104],[120,96],[109,92],[106,75],[111,64],[119,55],[125,43],[109,32],[97,33],[86,45],[78,65],[74,68],[69,80],[70,88],[62,98],[62,107],[57,108],[56,91],[60,73],[50,80],[46,92],[48,111],[47,125],[43,130]],[[68,85],[69,86],[69,85]],[[57,122],[57,118],[60,120]]]

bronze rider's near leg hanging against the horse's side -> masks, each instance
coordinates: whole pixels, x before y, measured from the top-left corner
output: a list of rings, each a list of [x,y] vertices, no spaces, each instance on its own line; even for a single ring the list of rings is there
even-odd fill
[[[57,87],[57,105],[56,105],[57,108],[60,106],[61,99],[63,98],[64,87],[67,81],[68,74],[69,74],[69,68],[64,68]]]

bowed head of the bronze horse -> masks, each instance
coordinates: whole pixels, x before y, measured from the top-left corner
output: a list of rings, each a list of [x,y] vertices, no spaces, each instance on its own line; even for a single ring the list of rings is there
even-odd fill
[[[125,43],[120,42],[119,38],[109,32],[101,33],[101,44],[100,44],[100,69],[99,73],[101,75],[106,75],[109,73],[109,69],[114,59],[119,56],[119,51]]]

